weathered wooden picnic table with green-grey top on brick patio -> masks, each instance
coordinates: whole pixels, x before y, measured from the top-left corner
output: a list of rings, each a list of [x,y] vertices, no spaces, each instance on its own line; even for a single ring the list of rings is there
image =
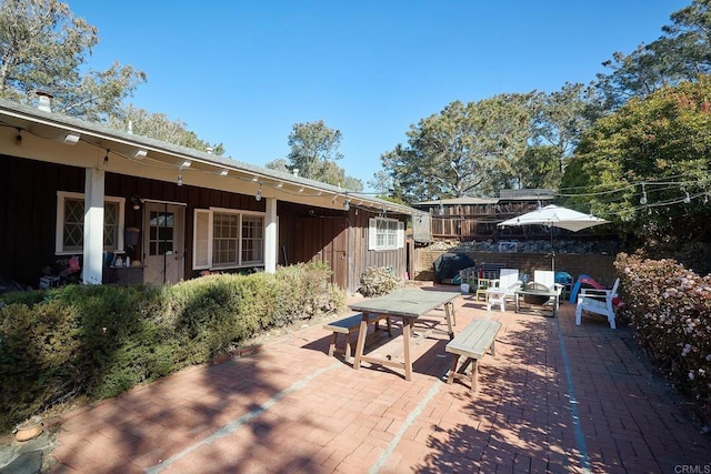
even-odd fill
[[[444,310],[444,319],[447,321],[447,334],[449,335],[449,339],[452,340],[454,337],[454,331],[452,330],[454,307],[452,301],[458,296],[459,292],[403,289],[395,290],[383,296],[372,297],[350,304],[349,307],[351,310],[362,313],[360,330],[358,332],[358,343],[356,344],[353,369],[360,369],[360,364],[363,361],[385,366],[394,366],[403,369],[404,379],[410,381],[412,379],[412,357],[410,349],[414,333],[414,323],[418,319],[433,310],[442,307]],[[403,362],[377,357],[363,353],[368,324],[378,320],[378,317],[369,317],[369,314],[375,314],[382,317],[399,317],[402,320]]]

